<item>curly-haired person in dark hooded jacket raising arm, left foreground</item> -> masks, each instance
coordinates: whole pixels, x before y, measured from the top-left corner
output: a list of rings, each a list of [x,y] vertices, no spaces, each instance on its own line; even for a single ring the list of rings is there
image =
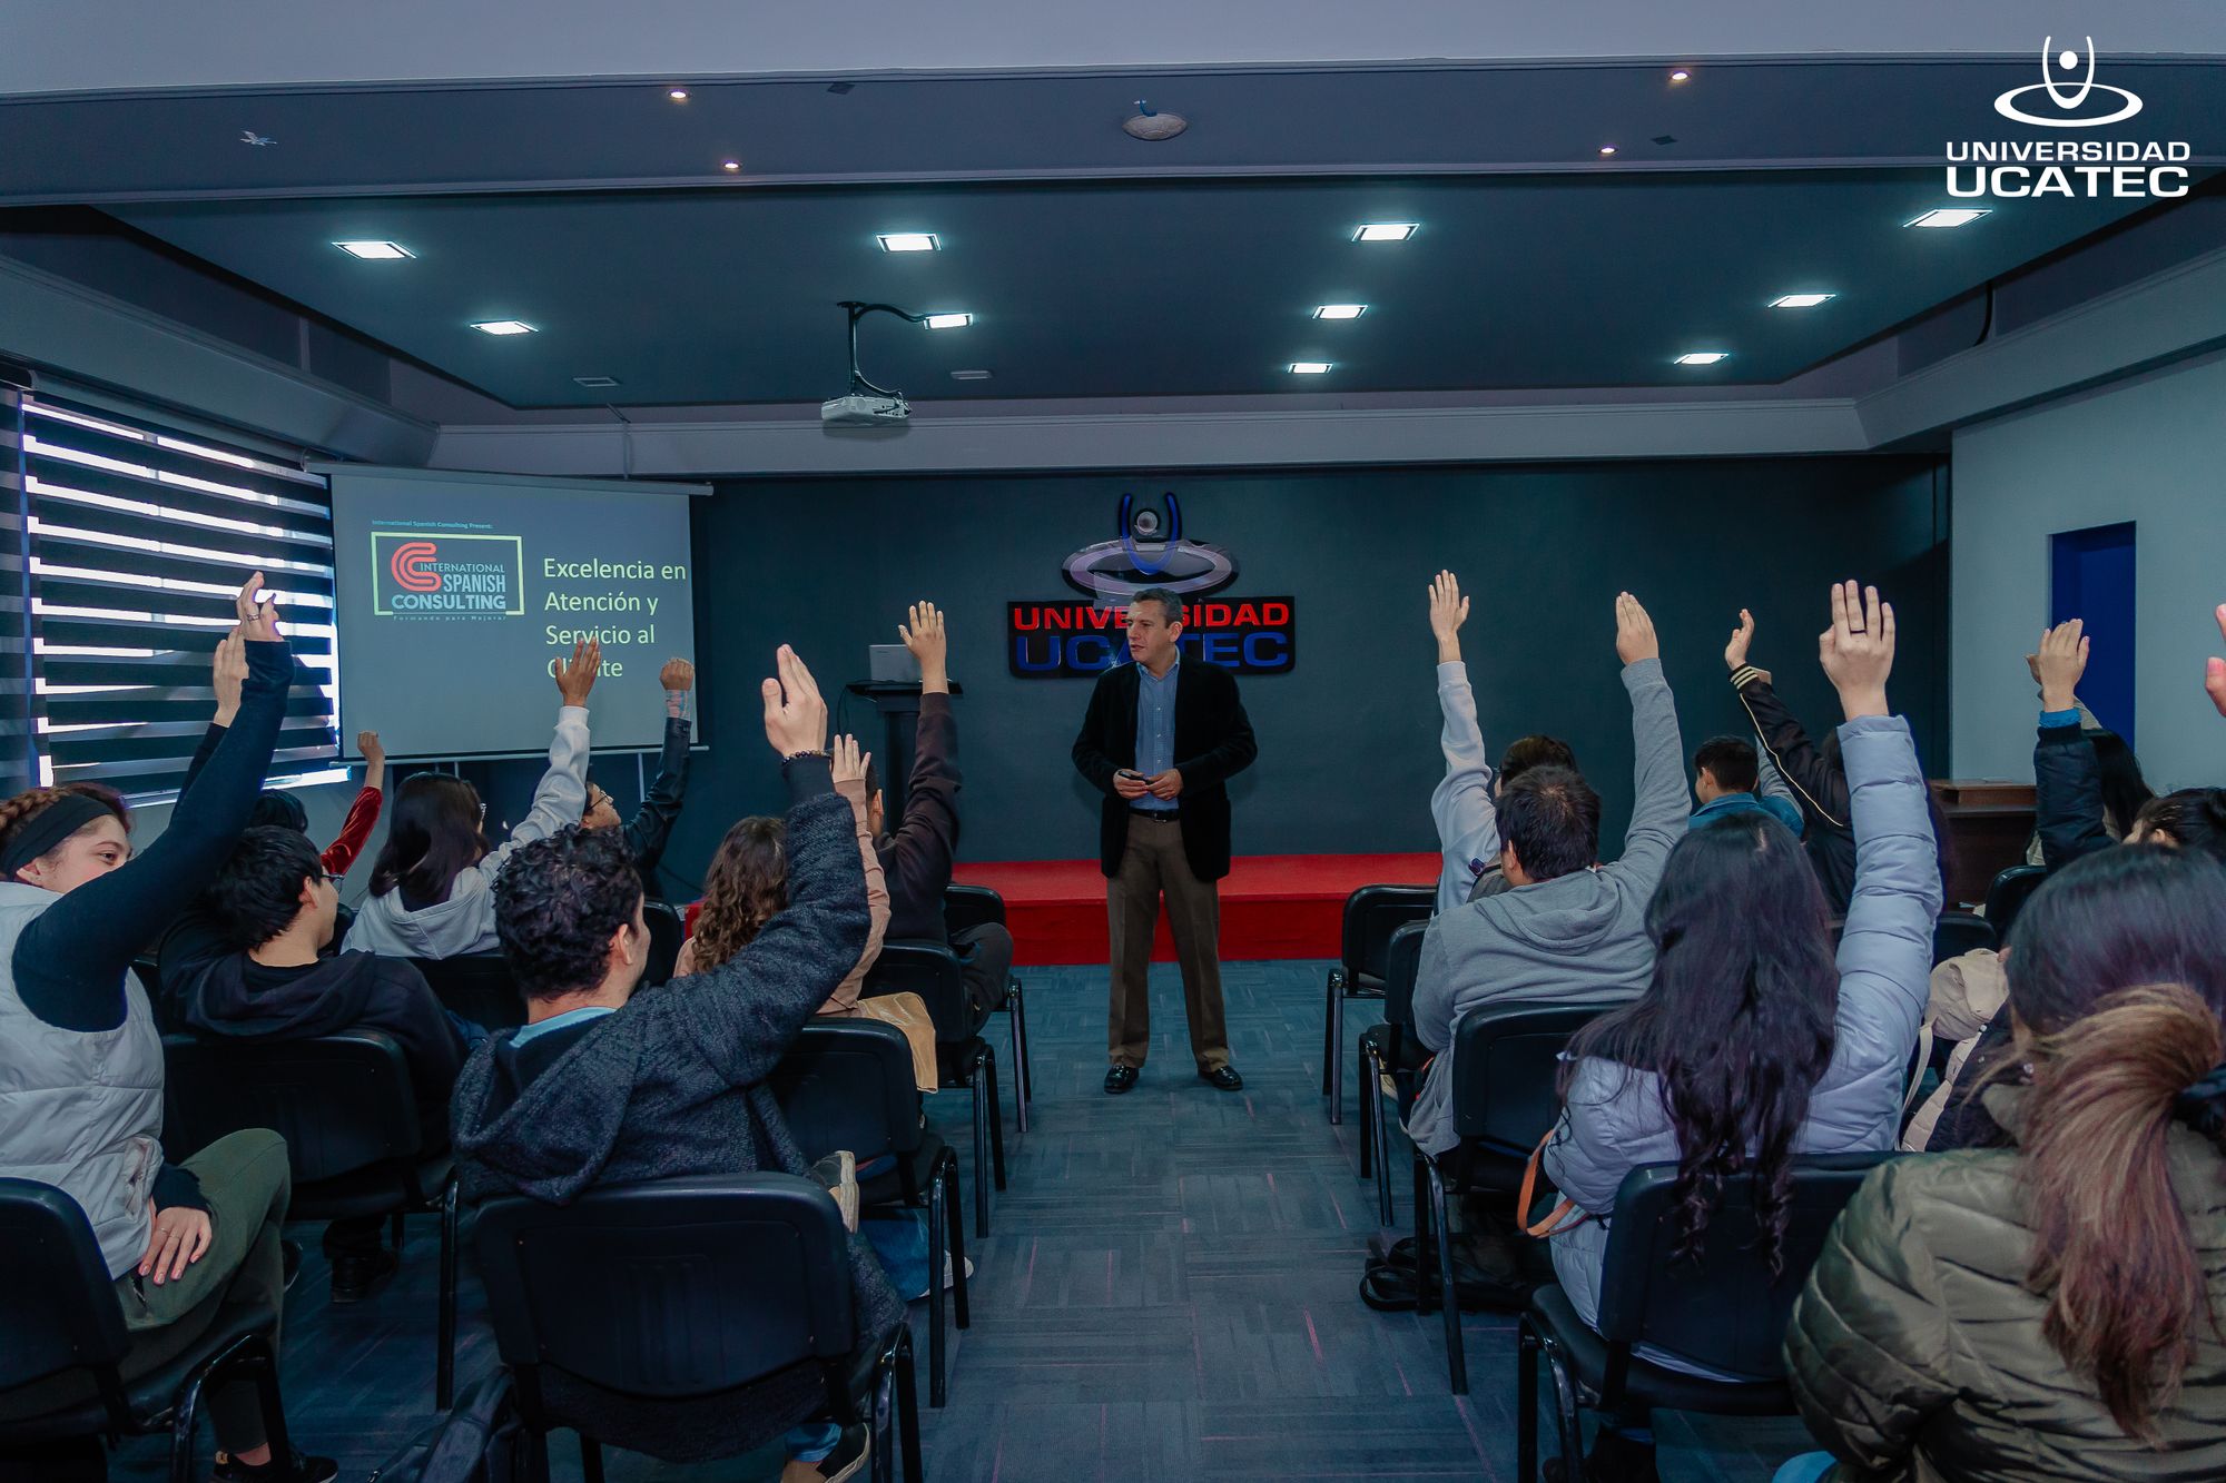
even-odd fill
[[[648,964],[641,882],[612,831],[556,828],[519,846],[494,884],[525,1027],[481,1044],[456,1082],[463,1194],[565,1205],[597,1185],[690,1173],[806,1173],[766,1078],[866,946],[855,811],[835,797],[826,701],[781,646],[764,684],[766,739],[788,779],[788,906],[717,969],[634,995]],[[857,1336],[904,1314],[850,1240]],[[848,1479],[866,1427],[799,1425],[826,1392],[806,1365],[741,1392],[646,1403],[550,1374],[552,1410],[668,1461],[735,1456],[788,1434],[784,1479]]]

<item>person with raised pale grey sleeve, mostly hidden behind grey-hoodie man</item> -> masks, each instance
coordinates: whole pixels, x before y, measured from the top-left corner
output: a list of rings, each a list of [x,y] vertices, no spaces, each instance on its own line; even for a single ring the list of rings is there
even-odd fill
[[[1469,599],[1451,572],[1429,583],[1429,632],[1438,639],[1438,708],[1445,728],[1445,779],[1429,795],[1429,817],[1438,824],[1436,911],[1478,902],[1509,888],[1500,873],[1500,822],[1494,802],[1516,777],[1536,766],[1576,770],[1576,753],[1560,737],[1516,737],[1500,753],[1498,773],[1485,762],[1485,733],[1476,724],[1469,666],[1460,659],[1460,626],[1469,621]]]

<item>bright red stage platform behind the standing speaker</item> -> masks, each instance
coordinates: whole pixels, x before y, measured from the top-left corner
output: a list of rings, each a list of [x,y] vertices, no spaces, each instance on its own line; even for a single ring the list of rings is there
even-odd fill
[[[1004,897],[1013,962],[1106,962],[1106,877],[1095,860],[962,864],[957,880]],[[1336,957],[1353,886],[1436,880],[1436,855],[1240,855],[1222,880],[1222,957]],[[1151,957],[1175,960],[1164,915]]]

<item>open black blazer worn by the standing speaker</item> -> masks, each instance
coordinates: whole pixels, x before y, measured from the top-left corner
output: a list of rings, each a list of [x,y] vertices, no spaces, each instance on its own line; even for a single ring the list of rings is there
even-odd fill
[[[1089,715],[1075,737],[1075,770],[1104,793],[1097,822],[1097,868],[1120,873],[1129,848],[1129,799],[1113,793],[1113,773],[1135,766],[1137,668],[1122,664],[1097,677]],[[1260,755],[1235,677],[1195,655],[1175,668],[1175,770],[1182,773],[1182,857],[1198,880],[1229,875],[1229,788],[1222,784]]]

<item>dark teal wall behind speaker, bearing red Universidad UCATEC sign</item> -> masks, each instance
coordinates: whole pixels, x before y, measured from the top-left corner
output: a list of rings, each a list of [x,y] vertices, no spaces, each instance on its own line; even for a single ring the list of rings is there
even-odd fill
[[[1946,494],[1921,459],[1750,459],[1273,474],[735,481],[697,503],[703,737],[670,862],[688,880],[726,826],[781,802],[757,681],[792,641],[833,695],[893,644],[906,601],[951,615],[971,860],[1084,857],[1095,808],[1066,759],[1089,681],[1015,679],[1004,603],[1073,597],[1062,559],[1113,534],[1122,492],[1182,501],[1184,534],[1238,559],[1242,595],[1298,599],[1298,668],[1244,681],[1260,762],[1231,784],[1238,853],[1429,851],[1442,773],[1425,583],[1474,595],[1462,644],[1487,746],[1567,737],[1629,813],[1629,710],[1612,601],[1654,612],[1687,753],[1739,724],[1723,639],[1741,606],[1754,661],[1814,717],[1825,583],[1861,577],[1899,612],[1892,697],[1937,773],[1948,757]],[[1941,490],[1946,477],[1941,477]],[[861,701],[848,724],[873,735]],[[614,768],[605,768],[614,770]],[[632,793],[628,777],[612,790]],[[1609,844],[1614,851],[1614,844]]]

